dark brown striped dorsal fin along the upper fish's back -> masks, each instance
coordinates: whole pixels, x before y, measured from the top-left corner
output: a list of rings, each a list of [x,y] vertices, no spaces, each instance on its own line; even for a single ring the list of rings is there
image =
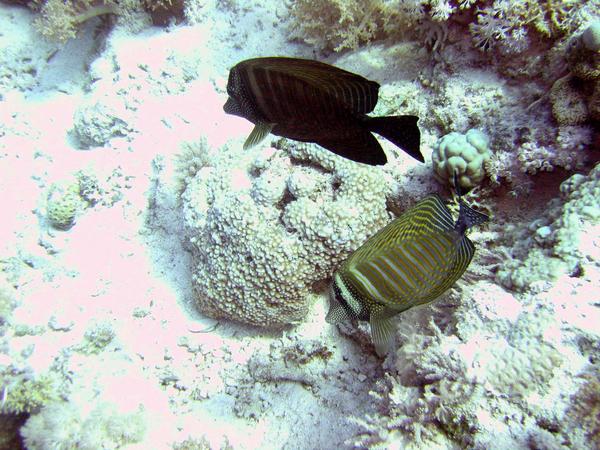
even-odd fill
[[[247,60],[244,64],[279,74],[283,79],[305,83],[323,96],[335,98],[355,113],[370,113],[377,104],[379,83],[320,61],[270,57]],[[291,82],[283,84],[293,85]]]

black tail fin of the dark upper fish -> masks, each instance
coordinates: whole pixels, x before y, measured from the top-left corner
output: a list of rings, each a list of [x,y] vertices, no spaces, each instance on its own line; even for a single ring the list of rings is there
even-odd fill
[[[417,126],[418,120],[417,116],[369,117],[367,127],[369,131],[393,142],[416,160],[425,162],[419,150],[421,132]]]

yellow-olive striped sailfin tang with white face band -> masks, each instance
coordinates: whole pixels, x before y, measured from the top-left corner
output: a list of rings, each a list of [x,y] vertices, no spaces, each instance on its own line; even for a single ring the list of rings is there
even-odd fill
[[[387,352],[391,318],[429,303],[465,272],[475,247],[465,232],[487,216],[460,201],[456,223],[430,195],[369,238],[334,273],[327,322],[368,320],[375,349]]]

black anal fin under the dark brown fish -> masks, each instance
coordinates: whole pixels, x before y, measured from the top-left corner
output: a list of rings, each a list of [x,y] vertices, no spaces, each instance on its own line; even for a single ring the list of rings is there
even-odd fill
[[[352,130],[352,133],[347,136],[338,135],[333,139],[323,138],[315,142],[336,155],[352,161],[371,166],[379,166],[387,162],[381,145],[368,130]]]

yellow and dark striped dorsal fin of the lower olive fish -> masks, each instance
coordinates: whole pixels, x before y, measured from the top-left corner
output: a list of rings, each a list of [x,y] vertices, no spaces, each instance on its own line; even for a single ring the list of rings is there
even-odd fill
[[[454,222],[448,207],[439,195],[429,195],[373,235],[346,260],[346,266],[351,267],[356,261],[366,260],[383,248],[400,245],[405,239],[425,233],[446,233],[453,229]]]

